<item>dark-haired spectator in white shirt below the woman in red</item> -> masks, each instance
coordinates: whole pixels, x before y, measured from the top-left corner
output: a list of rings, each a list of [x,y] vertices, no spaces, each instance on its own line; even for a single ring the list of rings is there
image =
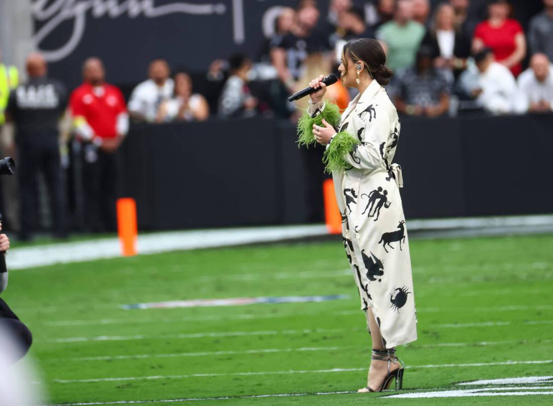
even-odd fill
[[[461,89],[493,114],[513,112],[517,83],[511,71],[494,61],[489,48],[475,54],[474,63],[459,78]]]

